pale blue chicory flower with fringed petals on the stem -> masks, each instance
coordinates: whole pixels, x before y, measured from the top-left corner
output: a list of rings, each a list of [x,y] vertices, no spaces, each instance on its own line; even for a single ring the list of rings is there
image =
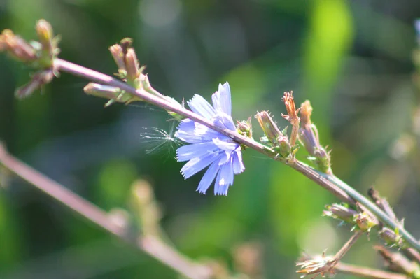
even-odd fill
[[[220,84],[211,99],[213,106],[202,96],[195,94],[193,99],[188,101],[188,106],[194,113],[210,120],[216,126],[236,131],[235,123],[230,116],[232,104],[229,83]],[[181,169],[184,178],[190,178],[209,166],[197,191],[205,194],[216,178],[214,194],[227,195],[230,185],[233,184],[234,175],[245,169],[239,143],[190,119],[181,121],[175,136],[181,141],[190,143],[176,150],[179,162],[188,161]]]

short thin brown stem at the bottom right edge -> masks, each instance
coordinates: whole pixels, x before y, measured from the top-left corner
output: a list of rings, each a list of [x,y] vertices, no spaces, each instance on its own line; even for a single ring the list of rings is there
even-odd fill
[[[339,262],[334,267],[334,271],[370,279],[409,279],[409,276],[405,276],[404,274],[370,269],[364,266],[355,266],[353,264],[344,264],[342,262]]]

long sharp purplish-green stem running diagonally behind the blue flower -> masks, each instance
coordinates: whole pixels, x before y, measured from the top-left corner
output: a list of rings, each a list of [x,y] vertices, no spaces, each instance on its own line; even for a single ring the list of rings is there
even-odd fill
[[[300,173],[303,173],[304,176],[307,176],[307,178],[313,180],[318,185],[321,185],[325,189],[328,189],[330,192],[332,192],[332,194],[335,194],[335,196],[337,196],[339,199],[342,199],[342,201],[351,204],[354,204],[355,201],[358,201],[369,210],[372,210],[374,215],[377,215],[377,217],[379,217],[379,219],[388,224],[388,226],[390,226],[393,229],[400,229],[400,233],[405,238],[405,240],[414,248],[416,248],[416,250],[420,251],[420,243],[416,241],[416,239],[411,234],[409,234],[408,231],[406,231],[399,224],[396,224],[393,220],[391,220],[388,217],[388,215],[386,215],[380,208],[374,205],[374,203],[366,199],[362,194],[358,193],[355,189],[351,188],[349,185],[346,185],[346,183],[342,182],[342,180],[339,180],[335,176],[330,176],[328,174],[316,171],[315,169],[312,169],[311,167],[297,160],[285,161],[284,159],[280,159],[279,157],[276,157],[276,152],[274,152],[272,148],[269,148],[265,145],[262,145],[261,143],[253,141],[253,139],[251,138],[241,136],[236,131],[230,131],[228,129],[218,127],[214,125],[211,121],[204,119],[204,117],[201,117],[200,115],[197,115],[190,110],[182,108],[181,106],[176,106],[174,103],[170,103],[165,99],[161,99],[158,96],[153,96],[153,94],[146,92],[146,90],[144,89],[136,90],[134,89],[134,87],[131,87],[130,85],[127,85],[126,83],[123,83],[122,81],[117,80],[116,78],[112,78],[111,76],[107,76],[103,73],[87,69],[83,66],[79,66],[77,64],[73,64],[62,59],[55,59],[54,67],[56,71],[72,73],[75,76],[80,76],[82,78],[86,78],[87,80],[96,81],[97,83],[103,83],[106,85],[119,87],[120,89],[125,90],[126,92],[130,92],[131,94],[139,96],[141,99],[147,101],[148,103],[153,103],[155,106],[159,106],[160,108],[165,108],[166,110],[173,111],[174,113],[178,113],[179,115],[183,115],[184,117],[188,117],[189,119],[194,120],[195,122],[203,124],[204,126],[214,129],[215,131],[218,131],[221,134],[229,136],[238,143],[242,143],[248,146],[249,148],[252,148],[264,155],[267,155],[268,157],[286,163],[293,169],[296,169]]]

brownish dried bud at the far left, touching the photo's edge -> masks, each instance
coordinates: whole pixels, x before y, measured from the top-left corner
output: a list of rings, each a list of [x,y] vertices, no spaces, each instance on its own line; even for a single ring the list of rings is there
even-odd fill
[[[22,62],[34,62],[38,59],[35,48],[8,29],[4,29],[0,35],[0,51],[6,51]]]

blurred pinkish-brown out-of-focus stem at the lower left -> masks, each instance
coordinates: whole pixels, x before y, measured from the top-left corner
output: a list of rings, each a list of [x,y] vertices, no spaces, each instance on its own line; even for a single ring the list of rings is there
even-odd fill
[[[192,262],[174,248],[164,243],[160,238],[156,238],[155,236],[132,238],[129,234],[130,230],[127,227],[121,227],[116,222],[112,222],[104,210],[71,192],[63,185],[44,176],[19,159],[9,155],[1,143],[0,164],[45,194],[48,194],[48,196],[64,204],[64,206],[90,220],[90,222],[97,224],[102,229],[109,231],[109,233],[123,239],[127,243],[135,245],[140,250],[146,252],[146,254],[158,259],[183,276],[190,279],[211,278],[211,270],[207,266]]]

